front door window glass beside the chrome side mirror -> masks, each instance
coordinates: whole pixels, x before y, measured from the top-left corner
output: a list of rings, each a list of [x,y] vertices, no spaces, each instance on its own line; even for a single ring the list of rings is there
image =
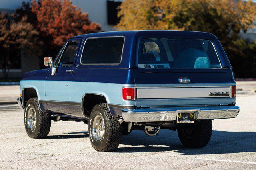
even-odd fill
[[[68,42],[62,53],[58,67],[71,67],[73,65],[78,44],[78,41]]]

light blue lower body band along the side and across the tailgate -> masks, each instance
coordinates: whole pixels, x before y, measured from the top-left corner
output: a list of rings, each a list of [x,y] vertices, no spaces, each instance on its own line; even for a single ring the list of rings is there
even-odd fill
[[[204,84],[205,85],[205,84]],[[209,86],[212,84],[209,84]],[[226,84],[225,84],[226,85]],[[135,84],[116,84],[98,82],[69,82],[69,81],[21,81],[23,88],[34,88],[38,94],[38,100],[46,101],[45,106],[52,104],[56,112],[70,111],[70,115],[82,117],[82,98],[85,94],[99,94],[106,98],[108,104],[119,106],[198,106],[198,105],[219,105],[235,102],[235,98],[167,98],[167,99],[138,99],[123,100],[122,88],[135,87]],[[144,87],[145,84],[136,84],[136,87]],[[147,85],[150,86],[150,85]],[[156,86],[156,84],[154,85]],[[154,87],[150,86],[150,87]],[[167,86],[167,85],[165,85]],[[197,85],[202,86],[202,84]],[[162,86],[164,87],[164,86]],[[51,103],[47,102],[51,101]],[[54,103],[55,102],[55,103]],[[56,103],[60,102],[60,103]],[[74,102],[73,104],[63,104],[61,102]],[[63,107],[62,107],[63,106]],[[76,113],[77,110],[77,113]],[[79,112],[79,113],[78,113]],[[119,107],[118,113],[121,114]],[[118,114],[119,115],[119,114]]]

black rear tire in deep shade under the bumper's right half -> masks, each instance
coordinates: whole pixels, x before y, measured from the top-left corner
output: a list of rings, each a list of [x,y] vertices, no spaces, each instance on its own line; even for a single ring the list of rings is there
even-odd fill
[[[192,128],[192,133],[186,135],[186,129]],[[191,129],[190,129],[191,130]],[[212,120],[202,121],[193,127],[184,127],[178,129],[178,136],[181,143],[188,148],[202,148],[210,141],[212,135]]]

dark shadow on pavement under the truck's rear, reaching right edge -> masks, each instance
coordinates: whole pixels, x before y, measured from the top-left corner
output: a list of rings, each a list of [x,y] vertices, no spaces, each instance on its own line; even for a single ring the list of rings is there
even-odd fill
[[[132,131],[130,135],[123,135],[121,144],[128,146],[119,146],[115,152],[177,152],[186,155],[256,152],[256,132],[212,131],[208,145],[199,149],[183,147],[177,131],[162,130],[153,137],[143,133]]]

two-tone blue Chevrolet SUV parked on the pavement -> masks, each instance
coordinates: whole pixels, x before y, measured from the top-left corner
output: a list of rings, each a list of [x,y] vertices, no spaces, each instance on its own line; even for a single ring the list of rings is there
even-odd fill
[[[49,68],[22,74],[18,103],[29,137],[51,121],[88,124],[92,147],[118,148],[122,135],[178,131],[185,147],[208,144],[212,120],[236,117],[236,82],[218,39],[194,31],[116,31],[66,41]]]

